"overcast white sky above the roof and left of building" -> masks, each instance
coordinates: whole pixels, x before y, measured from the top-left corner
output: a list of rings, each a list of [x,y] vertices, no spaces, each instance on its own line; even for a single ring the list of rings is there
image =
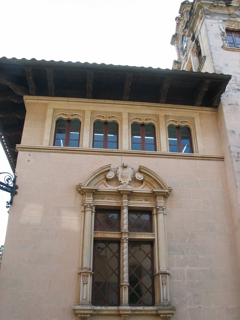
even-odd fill
[[[2,1],[0,57],[172,69],[177,54],[170,41],[181,2]],[[1,154],[0,159],[0,172],[9,171]],[[20,196],[21,186],[15,199]],[[5,240],[9,198],[0,190],[0,245]]]

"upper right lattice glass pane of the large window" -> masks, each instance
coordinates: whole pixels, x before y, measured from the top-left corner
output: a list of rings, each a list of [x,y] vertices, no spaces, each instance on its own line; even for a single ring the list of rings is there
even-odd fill
[[[151,212],[128,212],[129,232],[152,232]]]

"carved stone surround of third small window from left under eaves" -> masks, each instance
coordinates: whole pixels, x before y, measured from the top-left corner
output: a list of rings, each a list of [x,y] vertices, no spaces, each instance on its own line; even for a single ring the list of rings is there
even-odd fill
[[[155,127],[155,151],[161,151],[158,116],[146,114],[129,114],[129,149],[132,150],[132,124],[153,124]],[[136,151],[136,150],[135,150]],[[141,150],[142,151],[142,150]],[[152,151],[149,151],[152,152]]]

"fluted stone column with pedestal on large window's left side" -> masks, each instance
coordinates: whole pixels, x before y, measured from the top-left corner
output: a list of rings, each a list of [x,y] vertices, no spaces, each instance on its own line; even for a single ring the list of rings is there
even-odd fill
[[[84,203],[84,234],[82,249],[82,268],[80,273],[80,304],[90,304],[91,244],[92,244],[92,201]]]

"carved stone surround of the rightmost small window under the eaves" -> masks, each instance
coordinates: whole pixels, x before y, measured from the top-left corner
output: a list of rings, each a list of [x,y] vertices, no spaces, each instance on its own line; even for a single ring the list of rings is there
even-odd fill
[[[191,130],[193,152],[198,153],[194,118],[192,118],[192,117],[165,116],[165,124],[166,124],[166,137],[168,137],[167,128],[170,124],[173,124],[174,126],[180,126],[180,127],[185,127],[185,126],[189,127]],[[168,143],[167,143],[167,150],[169,152],[169,144]]]

